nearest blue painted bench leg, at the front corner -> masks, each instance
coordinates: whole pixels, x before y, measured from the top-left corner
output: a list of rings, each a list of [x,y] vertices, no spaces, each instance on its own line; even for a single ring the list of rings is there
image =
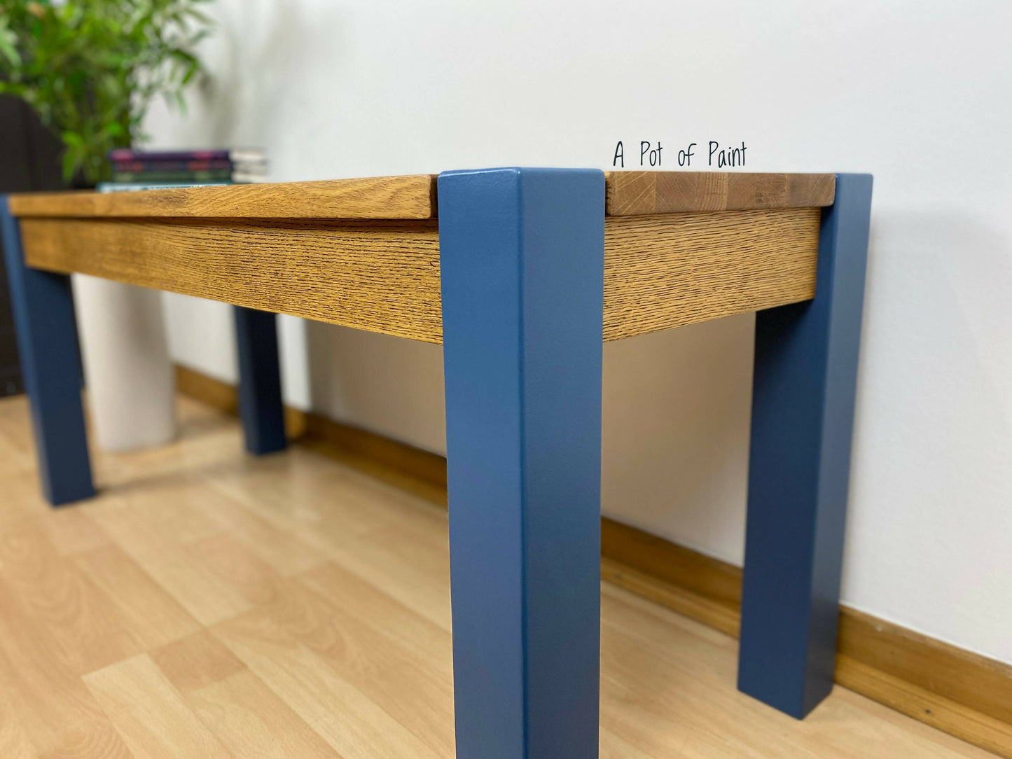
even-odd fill
[[[457,757],[592,759],[604,177],[438,181]]]

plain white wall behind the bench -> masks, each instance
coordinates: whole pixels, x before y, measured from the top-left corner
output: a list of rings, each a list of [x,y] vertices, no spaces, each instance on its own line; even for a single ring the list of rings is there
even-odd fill
[[[662,168],[744,140],[746,170],[873,172],[844,601],[1012,662],[1012,3],[215,12],[216,90],[185,120],[153,112],[154,144],[261,145],[275,180],[608,168],[619,139],[626,168],[640,140],[664,144]],[[228,310],[170,312],[179,360],[234,377]],[[752,324],[605,349],[604,511],[738,563]],[[444,450],[438,347],[282,330],[290,402]]]

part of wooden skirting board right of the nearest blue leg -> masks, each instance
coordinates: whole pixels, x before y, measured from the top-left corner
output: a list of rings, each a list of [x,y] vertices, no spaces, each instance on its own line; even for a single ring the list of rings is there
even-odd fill
[[[601,554],[605,580],[738,637],[740,567],[603,518]],[[840,607],[837,646],[840,685],[1012,757],[1009,665],[848,606]]]

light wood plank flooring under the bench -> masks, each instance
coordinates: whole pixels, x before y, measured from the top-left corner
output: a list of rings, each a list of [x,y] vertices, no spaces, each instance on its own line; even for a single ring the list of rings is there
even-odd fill
[[[0,757],[451,757],[445,510],[180,419],[52,510],[26,403],[0,401]],[[735,690],[731,638],[601,601],[603,759],[991,756],[840,687],[795,722]]]

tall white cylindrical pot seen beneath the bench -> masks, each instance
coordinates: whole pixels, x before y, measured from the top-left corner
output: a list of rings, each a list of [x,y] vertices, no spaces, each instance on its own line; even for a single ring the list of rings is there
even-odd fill
[[[88,405],[99,447],[123,451],[172,440],[175,374],[161,293],[85,274],[73,279]]]

